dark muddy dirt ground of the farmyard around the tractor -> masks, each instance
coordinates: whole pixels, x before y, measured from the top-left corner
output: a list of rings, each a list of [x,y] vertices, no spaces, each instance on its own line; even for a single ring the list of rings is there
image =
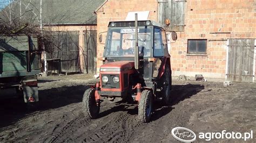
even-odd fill
[[[152,121],[139,123],[134,104],[104,101],[98,119],[85,119],[83,92],[92,75],[39,77],[39,108],[16,98],[0,101],[0,142],[178,142],[174,127],[199,132],[250,132],[256,142],[256,84],[173,80],[170,106],[154,104]],[[216,142],[242,142],[219,139]],[[196,142],[205,142],[197,139]]]

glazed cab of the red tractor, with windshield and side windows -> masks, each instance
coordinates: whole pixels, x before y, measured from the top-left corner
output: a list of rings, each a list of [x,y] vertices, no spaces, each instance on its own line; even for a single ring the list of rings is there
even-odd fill
[[[135,22],[110,22],[104,47],[103,64],[116,61],[134,62]],[[157,80],[164,58],[170,58],[163,26],[151,20],[138,21],[139,73],[146,82]],[[165,61],[164,61],[165,62]],[[106,66],[104,66],[106,67]],[[100,68],[100,71],[104,70]]]

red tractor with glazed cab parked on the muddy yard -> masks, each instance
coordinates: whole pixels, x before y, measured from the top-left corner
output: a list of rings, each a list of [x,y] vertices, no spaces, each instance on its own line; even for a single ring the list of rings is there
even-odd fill
[[[174,33],[176,34],[176,33]],[[154,99],[169,103],[171,64],[163,26],[151,20],[110,22],[103,65],[94,87],[83,97],[87,118],[97,118],[100,98],[131,98],[138,103],[138,117],[149,122]]]

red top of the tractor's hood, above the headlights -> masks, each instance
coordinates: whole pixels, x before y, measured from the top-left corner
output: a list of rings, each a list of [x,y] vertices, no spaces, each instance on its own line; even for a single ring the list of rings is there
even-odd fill
[[[133,61],[116,61],[100,66],[100,71],[121,71],[134,68]]]

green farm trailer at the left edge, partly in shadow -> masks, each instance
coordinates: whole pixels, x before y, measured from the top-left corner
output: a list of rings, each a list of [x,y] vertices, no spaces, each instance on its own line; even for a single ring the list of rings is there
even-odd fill
[[[31,35],[0,35],[1,99],[23,95],[25,103],[38,101],[41,51],[37,40]]]

